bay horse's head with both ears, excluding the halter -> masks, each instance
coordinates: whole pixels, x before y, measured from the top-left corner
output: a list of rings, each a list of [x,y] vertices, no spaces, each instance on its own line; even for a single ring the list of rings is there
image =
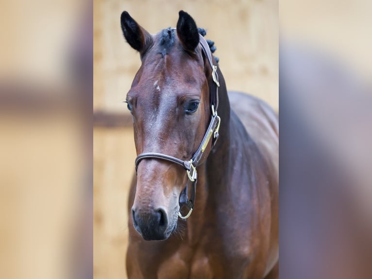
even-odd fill
[[[156,152],[188,160],[211,119],[213,70],[194,19],[180,11],[176,29],[151,35],[123,12],[121,28],[142,62],[126,97],[137,155]],[[210,149],[209,143],[201,161]],[[145,240],[165,240],[176,229],[187,181],[185,170],[170,161],[150,158],[138,164],[132,219]]]

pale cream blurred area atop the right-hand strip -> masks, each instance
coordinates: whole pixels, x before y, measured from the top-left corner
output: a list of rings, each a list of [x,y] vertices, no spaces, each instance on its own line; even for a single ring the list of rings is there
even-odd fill
[[[317,49],[371,85],[371,11],[369,0],[283,0],[281,40]]]

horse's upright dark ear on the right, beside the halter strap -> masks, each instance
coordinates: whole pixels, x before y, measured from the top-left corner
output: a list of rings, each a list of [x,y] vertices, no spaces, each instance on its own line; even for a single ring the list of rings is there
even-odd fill
[[[193,52],[199,44],[199,32],[195,20],[184,11],[180,11],[178,15],[178,38],[186,51]]]

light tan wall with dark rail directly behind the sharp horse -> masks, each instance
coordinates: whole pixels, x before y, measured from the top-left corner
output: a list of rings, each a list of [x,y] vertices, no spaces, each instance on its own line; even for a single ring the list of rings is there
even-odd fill
[[[123,279],[128,241],[127,196],[134,174],[132,117],[126,94],[139,54],[120,28],[122,11],[154,34],[175,27],[185,10],[215,41],[227,88],[249,92],[276,111],[277,0],[94,0],[94,278]]]

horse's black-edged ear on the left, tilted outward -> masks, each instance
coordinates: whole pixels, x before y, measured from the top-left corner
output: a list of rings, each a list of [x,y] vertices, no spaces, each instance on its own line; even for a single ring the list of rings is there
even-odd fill
[[[139,53],[143,54],[152,43],[152,36],[143,29],[127,11],[120,17],[121,30],[128,44]]]

